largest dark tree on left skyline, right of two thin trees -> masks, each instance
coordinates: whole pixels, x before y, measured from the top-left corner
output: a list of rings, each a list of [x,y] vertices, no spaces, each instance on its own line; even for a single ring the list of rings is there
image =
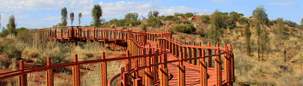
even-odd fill
[[[93,19],[93,25],[95,27],[99,27],[99,25],[102,22],[102,19],[100,18],[102,16],[102,9],[101,6],[99,4],[97,5],[93,5],[93,8],[91,10],[91,16]]]

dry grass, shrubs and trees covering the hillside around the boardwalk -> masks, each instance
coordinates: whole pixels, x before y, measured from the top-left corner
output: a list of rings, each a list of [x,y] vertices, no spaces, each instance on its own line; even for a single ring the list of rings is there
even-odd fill
[[[67,25],[66,8],[61,13],[62,22],[56,26]],[[90,26],[144,31],[171,30],[175,38],[201,42],[202,46],[207,46],[208,41],[211,41],[212,46],[216,42],[220,42],[220,46],[223,43],[232,44],[235,55],[235,85],[303,85],[303,22],[298,25],[283,18],[270,20],[263,6],[253,10],[250,17],[234,11],[219,10],[210,15],[190,12],[167,16],[159,14],[157,10],[151,10],[148,18],[141,20],[138,13],[128,13],[123,19],[104,22],[101,18],[101,6],[94,5]],[[82,14],[79,13],[79,25],[81,17]],[[72,24],[72,14],[70,19]],[[16,70],[16,60],[19,59],[45,66],[47,56],[54,58],[53,64],[58,64],[71,62],[73,54],[79,54],[80,60],[90,60],[99,59],[102,51],[109,52],[99,42],[79,42],[73,46],[68,42],[42,41],[38,32],[37,29],[16,29],[12,15],[7,29],[4,28],[0,34],[0,54],[5,60],[13,61],[11,66],[0,62],[0,68]],[[121,49],[116,50],[119,54],[123,53],[120,52]],[[100,73],[91,71],[87,74]],[[88,77],[87,74],[83,76]]]

